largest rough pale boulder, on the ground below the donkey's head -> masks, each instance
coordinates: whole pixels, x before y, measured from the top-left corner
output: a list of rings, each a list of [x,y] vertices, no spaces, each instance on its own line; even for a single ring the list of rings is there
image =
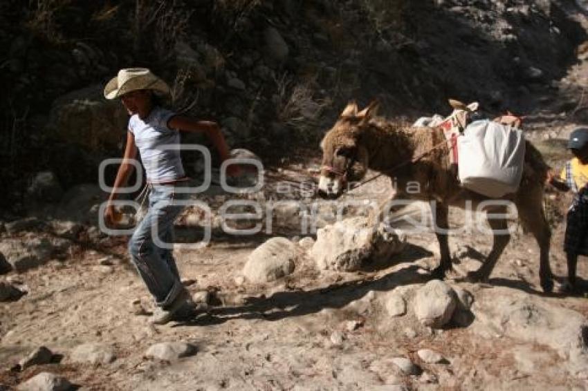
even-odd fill
[[[356,217],[319,229],[311,255],[321,270],[353,271],[368,260],[389,260],[405,245],[401,231],[383,224],[371,227],[368,218]]]

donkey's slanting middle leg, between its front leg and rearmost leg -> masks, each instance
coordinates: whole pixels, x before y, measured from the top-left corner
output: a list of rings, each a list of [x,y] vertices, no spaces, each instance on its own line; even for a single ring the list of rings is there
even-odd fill
[[[488,212],[499,213],[504,216],[506,213],[506,207],[495,207]],[[492,274],[492,270],[494,269],[498,258],[500,258],[502,251],[504,251],[504,247],[506,247],[511,240],[506,217],[492,216],[492,218],[490,218],[490,216],[486,216],[486,220],[493,232],[492,250],[486,257],[484,264],[481,265],[479,269],[468,273],[468,280],[475,283],[486,281],[490,278],[490,274]]]

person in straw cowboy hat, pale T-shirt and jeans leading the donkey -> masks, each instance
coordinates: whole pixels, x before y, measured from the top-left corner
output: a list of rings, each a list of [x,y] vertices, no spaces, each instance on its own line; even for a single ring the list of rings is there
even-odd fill
[[[151,321],[156,324],[172,321],[194,307],[190,294],[181,283],[172,250],[160,246],[171,242],[174,220],[183,209],[174,201],[185,196],[181,187],[188,179],[179,148],[169,148],[169,145],[179,146],[180,131],[202,132],[210,137],[223,160],[229,156],[228,146],[216,123],[176,115],[158,106],[154,97],[168,93],[169,86],[147,68],[121,69],[104,88],[104,97],[119,98],[131,115],[124,160],[118,169],[104,220],[107,225],[116,222],[118,212],[112,201],[117,198],[118,189],[127,182],[133,169],[130,161],[138,152],[150,190],[149,209],[129,240],[129,253],[154,296],[157,309]],[[235,166],[232,169],[229,166],[229,175],[235,174],[236,170]]]

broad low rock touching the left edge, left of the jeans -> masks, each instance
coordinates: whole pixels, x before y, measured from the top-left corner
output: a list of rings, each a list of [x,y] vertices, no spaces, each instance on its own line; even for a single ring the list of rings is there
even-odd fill
[[[24,271],[46,263],[53,253],[53,246],[46,238],[24,240],[5,239],[0,242],[0,253],[16,271]]]

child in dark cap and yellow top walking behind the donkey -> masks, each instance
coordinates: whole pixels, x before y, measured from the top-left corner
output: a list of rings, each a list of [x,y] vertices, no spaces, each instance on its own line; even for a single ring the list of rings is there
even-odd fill
[[[578,256],[588,256],[588,128],[578,128],[569,137],[569,160],[560,178],[548,174],[548,182],[558,190],[573,191],[573,203],[567,213],[564,251],[567,254],[568,280],[565,290],[576,290]]]

